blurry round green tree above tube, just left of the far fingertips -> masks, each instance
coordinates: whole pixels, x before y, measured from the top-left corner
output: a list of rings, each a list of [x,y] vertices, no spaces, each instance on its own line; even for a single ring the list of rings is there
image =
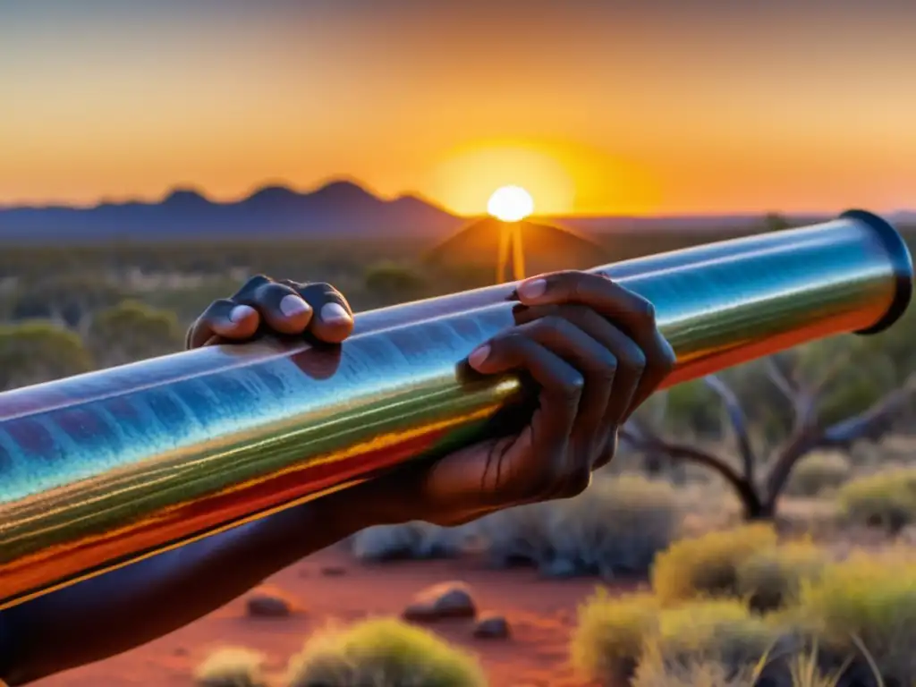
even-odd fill
[[[87,340],[97,365],[125,365],[180,350],[178,319],[169,311],[125,300],[97,312]]]

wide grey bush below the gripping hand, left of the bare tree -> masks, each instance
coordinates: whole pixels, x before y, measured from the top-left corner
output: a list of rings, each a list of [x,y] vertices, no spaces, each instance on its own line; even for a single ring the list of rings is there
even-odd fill
[[[681,520],[674,488],[632,474],[599,479],[581,496],[510,508],[481,520],[492,561],[529,562],[550,575],[641,574]]]

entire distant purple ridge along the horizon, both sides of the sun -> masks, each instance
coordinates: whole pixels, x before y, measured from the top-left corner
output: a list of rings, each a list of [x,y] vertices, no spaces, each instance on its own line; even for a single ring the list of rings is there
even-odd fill
[[[831,213],[787,215],[792,224],[811,224]],[[901,224],[916,213],[885,215]],[[462,217],[416,195],[387,200],[352,180],[333,180],[314,191],[270,185],[232,202],[213,201],[179,187],[158,202],[101,202],[66,205],[0,206],[0,242],[96,243],[102,241],[217,240],[269,238],[415,238],[440,242],[479,217]],[[547,217],[582,234],[757,229],[760,214],[657,217]]]

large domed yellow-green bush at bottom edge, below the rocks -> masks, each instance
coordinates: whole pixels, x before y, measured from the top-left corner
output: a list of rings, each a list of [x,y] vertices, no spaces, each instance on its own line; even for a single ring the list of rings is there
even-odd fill
[[[431,632],[378,618],[313,636],[289,661],[289,687],[484,687],[477,661]]]

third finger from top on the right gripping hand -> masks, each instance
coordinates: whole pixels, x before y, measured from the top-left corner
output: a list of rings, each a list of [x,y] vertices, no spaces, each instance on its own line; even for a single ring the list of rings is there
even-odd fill
[[[515,332],[560,355],[582,374],[584,386],[571,438],[583,455],[592,455],[600,448],[601,435],[605,432],[605,413],[616,377],[616,357],[573,322],[557,315],[520,324]]]

